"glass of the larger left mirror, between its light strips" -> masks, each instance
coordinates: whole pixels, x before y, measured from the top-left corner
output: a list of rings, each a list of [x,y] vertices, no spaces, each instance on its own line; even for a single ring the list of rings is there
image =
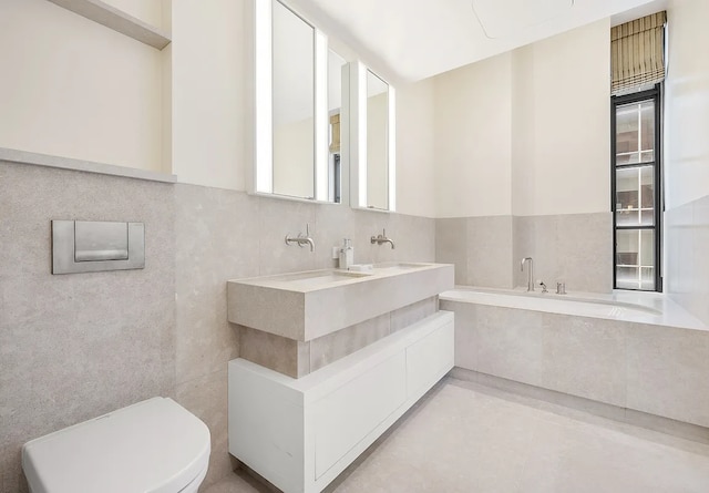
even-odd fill
[[[315,29],[273,0],[273,191],[315,197]]]

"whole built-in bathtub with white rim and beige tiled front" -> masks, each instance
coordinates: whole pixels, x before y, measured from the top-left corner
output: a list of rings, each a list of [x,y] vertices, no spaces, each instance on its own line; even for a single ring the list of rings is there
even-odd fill
[[[709,427],[709,328],[661,294],[460,287],[440,304],[460,369]]]

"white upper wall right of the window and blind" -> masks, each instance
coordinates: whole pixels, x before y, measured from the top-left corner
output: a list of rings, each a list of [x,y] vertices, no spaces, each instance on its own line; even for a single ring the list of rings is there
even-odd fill
[[[674,0],[667,9],[665,81],[667,208],[709,195],[709,2]]]

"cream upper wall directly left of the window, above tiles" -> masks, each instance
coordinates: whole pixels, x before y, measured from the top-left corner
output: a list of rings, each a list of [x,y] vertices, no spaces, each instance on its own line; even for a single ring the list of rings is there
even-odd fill
[[[610,21],[514,52],[512,213],[610,210]]]

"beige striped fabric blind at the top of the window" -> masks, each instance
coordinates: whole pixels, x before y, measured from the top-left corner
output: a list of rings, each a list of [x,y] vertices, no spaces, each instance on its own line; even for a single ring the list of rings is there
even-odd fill
[[[610,28],[612,94],[665,80],[666,21],[662,11]]]

